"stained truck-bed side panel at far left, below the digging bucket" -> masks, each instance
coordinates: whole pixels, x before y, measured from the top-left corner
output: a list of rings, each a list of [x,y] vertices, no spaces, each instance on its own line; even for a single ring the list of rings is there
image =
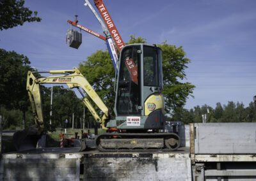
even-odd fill
[[[79,180],[80,154],[3,154],[0,180]]]

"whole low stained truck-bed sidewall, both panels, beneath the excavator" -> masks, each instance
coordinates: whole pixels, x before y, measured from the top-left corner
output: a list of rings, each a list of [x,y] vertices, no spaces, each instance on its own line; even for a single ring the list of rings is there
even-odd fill
[[[84,173],[80,164],[84,162]],[[0,180],[191,180],[189,153],[3,154]]]

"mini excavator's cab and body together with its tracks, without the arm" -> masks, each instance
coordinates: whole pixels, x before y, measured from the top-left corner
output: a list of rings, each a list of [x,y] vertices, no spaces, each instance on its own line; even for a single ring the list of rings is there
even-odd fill
[[[101,151],[170,151],[180,146],[176,133],[164,129],[163,71],[161,48],[132,44],[120,52],[115,98],[115,120],[108,133],[96,138]]]

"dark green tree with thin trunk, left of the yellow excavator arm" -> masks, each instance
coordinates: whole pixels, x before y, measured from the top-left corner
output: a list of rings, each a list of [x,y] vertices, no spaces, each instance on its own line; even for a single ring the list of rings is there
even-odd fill
[[[0,49],[0,105],[8,110],[17,109],[23,114],[25,126],[29,99],[26,91],[28,57]]]

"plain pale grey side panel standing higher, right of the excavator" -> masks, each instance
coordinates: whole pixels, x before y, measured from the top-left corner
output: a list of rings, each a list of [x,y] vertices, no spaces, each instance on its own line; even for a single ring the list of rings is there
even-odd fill
[[[255,154],[256,123],[195,124],[195,154]]]

